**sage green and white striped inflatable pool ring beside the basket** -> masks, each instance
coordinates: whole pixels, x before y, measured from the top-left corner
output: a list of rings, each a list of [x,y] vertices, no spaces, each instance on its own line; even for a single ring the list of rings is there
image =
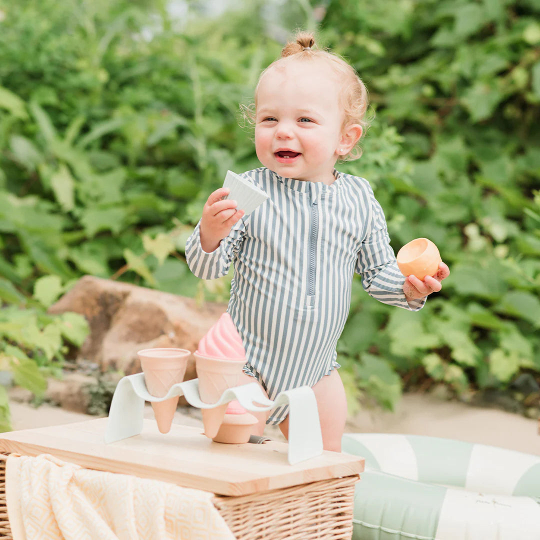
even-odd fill
[[[353,540],[540,540],[540,456],[438,437],[345,434],[366,458]]]

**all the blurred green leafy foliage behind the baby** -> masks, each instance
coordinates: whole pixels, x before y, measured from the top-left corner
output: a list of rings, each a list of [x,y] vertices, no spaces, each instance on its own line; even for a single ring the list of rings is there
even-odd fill
[[[0,0],[0,369],[43,393],[87,332],[46,308],[84,274],[228,299],[185,240],[227,169],[259,166],[238,104],[316,28],[375,113],[340,170],[370,181],[396,252],[426,236],[451,267],[414,314],[355,279],[350,412],[435,384],[537,410],[539,21],[539,0]]]

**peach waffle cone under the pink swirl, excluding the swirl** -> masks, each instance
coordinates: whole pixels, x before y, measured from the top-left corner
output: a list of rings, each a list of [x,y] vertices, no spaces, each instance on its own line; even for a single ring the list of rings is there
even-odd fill
[[[238,386],[245,359],[222,359],[195,352],[195,368],[199,377],[199,395],[205,403],[215,403],[227,388]],[[224,419],[227,404],[203,409],[204,433],[214,438]]]

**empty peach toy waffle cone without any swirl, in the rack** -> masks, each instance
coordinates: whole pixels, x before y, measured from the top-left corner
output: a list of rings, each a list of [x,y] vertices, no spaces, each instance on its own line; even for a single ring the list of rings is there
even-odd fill
[[[184,380],[187,359],[191,353],[186,349],[156,348],[139,350],[137,354],[148,392],[152,396],[163,397],[173,384]],[[178,405],[178,396],[165,401],[152,401],[151,404],[159,431],[168,433]]]

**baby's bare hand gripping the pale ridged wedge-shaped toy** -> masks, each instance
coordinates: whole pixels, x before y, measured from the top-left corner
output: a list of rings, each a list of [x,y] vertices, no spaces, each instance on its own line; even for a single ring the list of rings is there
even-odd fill
[[[227,237],[233,225],[244,215],[244,210],[236,210],[237,201],[224,199],[230,190],[220,187],[208,197],[200,225],[201,247],[206,253],[218,248],[219,242]]]

